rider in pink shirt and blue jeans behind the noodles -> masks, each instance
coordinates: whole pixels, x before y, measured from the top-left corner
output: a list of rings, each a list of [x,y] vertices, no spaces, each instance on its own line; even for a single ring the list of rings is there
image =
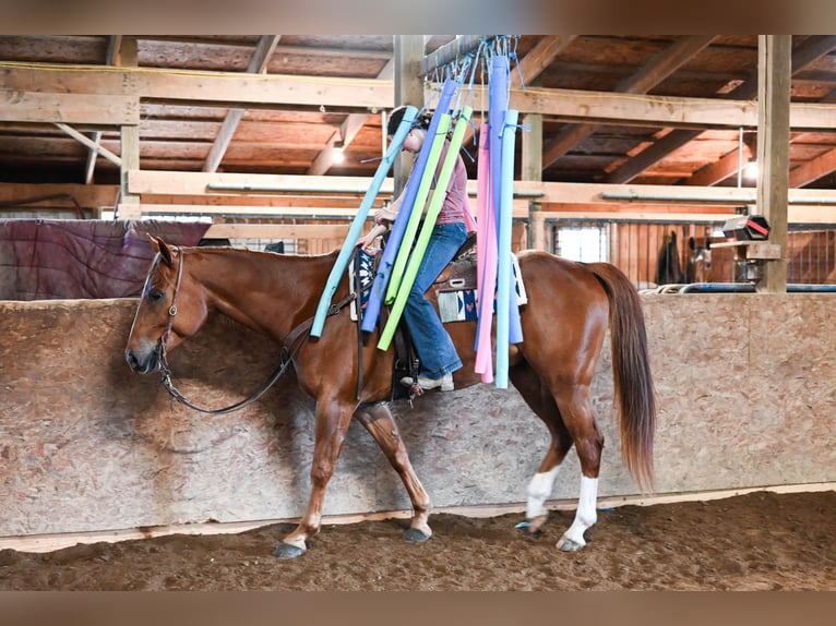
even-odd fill
[[[405,110],[406,107],[398,107],[390,115],[386,128],[390,137],[395,134]],[[406,135],[402,149],[417,154],[427,139],[429,124],[430,117],[420,116]],[[435,180],[441,173],[449,147],[450,141],[445,140],[435,169]],[[409,176],[413,174],[421,176],[422,172],[413,170]],[[375,227],[358,240],[358,245],[363,249],[370,248],[378,236],[391,228],[401,208],[403,197],[402,192],[392,204],[374,214]],[[441,388],[442,392],[450,392],[453,389],[453,372],[462,368],[462,359],[453,346],[453,340],[444,329],[432,302],[425,298],[425,293],[467,239],[464,213],[466,202],[467,170],[459,154],[456,155],[456,162],[447,184],[444,203],[435,219],[427,250],[404,306],[404,320],[409,328],[409,334],[413,336],[413,344],[421,362],[417,380],[413,380],[410,376],[401,378],[401,383],[406,386],[418,385],[423,390]]]

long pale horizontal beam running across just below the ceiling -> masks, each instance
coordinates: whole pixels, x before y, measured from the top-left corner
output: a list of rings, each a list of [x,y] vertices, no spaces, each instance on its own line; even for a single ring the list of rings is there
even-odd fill
[[[0,71],[7,81],[4,99],[0,99],[0,121],[60,121],[94,127],[139,123],[139,108],[132,104],[131,95],[180,104],[190,101],[195,106],[231,104],[247,108],[315,105],[383,109],[391,108],[394,101],[392,82],[382,80],[163,72],[101,65],[47,71],[43,64],[24,68],[9,62],[0,62]],[[20,91],[14,85],[25,86]],[[487,101],[487,88],[475,86],[474,97]],[[511,89],[509,107],[521,113],[542,113],[573,122],[698,129],[757,125],[757,107],[748,100],[527,87]],[[80,109],[86,110],[79,112]],[[836,129],[835,113],[834,105],[793,104],[790,122],[797,131]]]

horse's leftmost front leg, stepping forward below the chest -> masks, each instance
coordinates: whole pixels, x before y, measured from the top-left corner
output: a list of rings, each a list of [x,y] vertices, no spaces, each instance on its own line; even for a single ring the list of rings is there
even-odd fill
[[[325,487],[343,449],[355,407],[337,400],[317,402],[317,433],[311,465],[311,495],[299,526],[273,552],[282,559],[296,558],[308,550],[307,540],[320,531]]]

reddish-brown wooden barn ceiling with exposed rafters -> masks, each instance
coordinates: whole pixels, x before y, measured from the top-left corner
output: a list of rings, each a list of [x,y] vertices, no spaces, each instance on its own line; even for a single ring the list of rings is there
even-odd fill
[[[14,107],[21,94],[86,88],[79,85],[100,99],[108,120],[138,116],[143,170],[372,176],[382,152],[381,111],[393,103],[394,39],[0,36],[0,182],[119,182],[117,123],[41,122],[10,112],[22,110]],[[425,52],[454,39],[426,36]],[[120,73],[133,40],[140,71]],[[513,80],[522,77],[529,96],[580,89],[620,96],[612,106],[628,107],[637,98],[751,101],[757,94],[756,35],[521,36],[515,45],[519,69]],[[793,36],[792,48],[792,103],[836,103],[836,36]],[[262,97],[263,83],[243,81],[247,73],[287,81]],[[111,97],[138,84],[146,89],[138,111]],[[302,97],[304,89],[319,89],[327,104]],[[732,123],[643,121],[629,112],[590,121],[573,117],[565,105],[547,103],[544,109],[544,181],[737,185],[740,164],[756,154],[754,129],[741,133]],[[342,164],[333,158],[341,141]],[[91,143],[103,151],[94,153]],[[793,128],[789,160],[791,188],[835,188],[836,132],[827,124]]]

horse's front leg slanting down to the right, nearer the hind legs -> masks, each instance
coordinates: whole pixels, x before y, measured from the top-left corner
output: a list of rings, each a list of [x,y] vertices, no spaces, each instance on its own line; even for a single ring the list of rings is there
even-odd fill
[[[358,410],[356,417],[378,442],[409,493],[409,499],[413,503],[413,519],[404,533],[404,539],[410,542],[427,541],[432,537],[432,530],[428,523],[430,497],[413,469],[413,464],[409,461],[406,446],[397,432],[392,412],[385,405],[374,405]]]

